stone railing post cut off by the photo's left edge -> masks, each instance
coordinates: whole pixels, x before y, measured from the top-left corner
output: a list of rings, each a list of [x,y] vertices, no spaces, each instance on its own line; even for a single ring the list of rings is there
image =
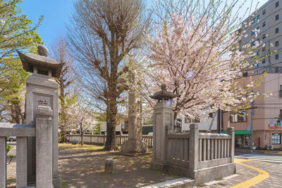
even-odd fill
[[[0,137],[0,187],[6,187],[6,137]]]

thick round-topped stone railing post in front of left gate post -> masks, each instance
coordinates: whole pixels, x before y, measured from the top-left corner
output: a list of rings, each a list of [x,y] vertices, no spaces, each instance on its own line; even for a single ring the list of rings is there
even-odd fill
[[[36,110],[36,187],[52,187],[52,116],[50,107]]]

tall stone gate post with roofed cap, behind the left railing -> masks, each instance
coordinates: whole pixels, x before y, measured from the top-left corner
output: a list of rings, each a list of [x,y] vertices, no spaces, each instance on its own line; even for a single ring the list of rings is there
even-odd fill
[[[47,58],[49,51],[44,46],[38,46],[38,53],[23,54],[18,51],[23,69],[32,74],[26,83],[26,122],[30,125],[36,123],[36,109],[38,106],[50,107],[52,110],[51,143],[52,143],[52,174],[54,188],[61,187],[58,173],[58,88],[59,85],[52,77],[58,78],[64,63]],[[27,137],[27,182],[34,184],[36,180],[36,151],[35,137]]]

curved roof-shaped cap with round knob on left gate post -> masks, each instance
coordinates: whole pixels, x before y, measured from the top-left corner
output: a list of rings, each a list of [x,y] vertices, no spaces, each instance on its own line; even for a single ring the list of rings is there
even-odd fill
[[[45,46],[39,45],[37,51],[39,55],[34,53],[23,54],[18,51],[20,60],[23,63],[23,69],[27,72],[34,72],[34,68],[36,67],[37,70],[40,70],[39,72],[42,72],[41,74],[44,74],[45,72],[48,74],[48,71],[51,71],[51,76],[59,78],[61,69],[65,63],[60,63],[52,58],[47,58],[49,51]]]

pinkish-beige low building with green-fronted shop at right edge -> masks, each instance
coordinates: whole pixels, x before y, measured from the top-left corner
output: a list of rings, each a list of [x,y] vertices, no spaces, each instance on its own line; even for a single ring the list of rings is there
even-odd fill
[[[262,74],[252,76],[257,79]],[[248,78],[239,79],[243,86],[246,86]],[[255,147],[266,148],[272,145],[274,149],[281,149],[282,126],[277,123],[279,115],[282,114],[282,74],[269,73],[264,76],[264,81],[255,91],[259,93],[271,93],[265,98],[260,95],[254,102],[253,117],[253,142]],[[224,113],[224,130],[228,127],[235,128],[235,147],[250,147],[251,135],[251,109],[242,114],[233,112]]]

